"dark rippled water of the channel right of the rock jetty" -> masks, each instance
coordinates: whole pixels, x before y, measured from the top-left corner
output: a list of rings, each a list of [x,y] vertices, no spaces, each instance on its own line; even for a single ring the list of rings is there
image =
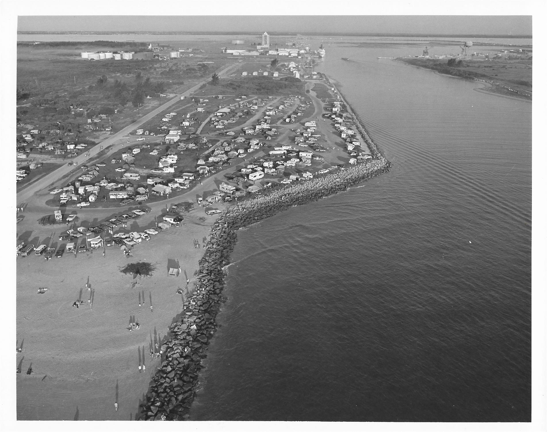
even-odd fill
[[[317,67],[393,169],[238,232],[191,419],[531,419],[531,103],[406,50]]]

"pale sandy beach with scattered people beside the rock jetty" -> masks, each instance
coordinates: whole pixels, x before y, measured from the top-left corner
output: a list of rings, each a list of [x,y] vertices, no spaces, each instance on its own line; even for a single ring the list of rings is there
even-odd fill
[[[200,210],[190,215],[202,215]],[[213,218],[199,222],[189,216],[185,225],[151,236],[133,247],[127,258],[117,246],[74,258],[45,261],[42,256],[17,260],[17,417],[20,420],[130,420],[148,389],[159,360],[151,344],[166,333],[181,312],[184,272],[194,280],[203,255],[202,240]],[[210,219],[210,220],[209,220]],[[200,248],[194,247],[194,239]],[[179,277],[168,276],[168,260],[179,262]],[[135,279],[120,273],[128,262],[157,264],[152,278]],[[85,288],[88,283],[91,291]],[[38,287],[48,287],[38,294]],[[80,296],[84,304],[72,304]],[[139,307],[139,294],[142,306]],[[92,304],[88,299],[92,295]],[[153,311],[150,311],[152,299]],[[138,330],[129,331],[131,317]],[[161,343],[160,343],[161,345]],[[139,361],[146,372],[139,373]],[[26,375],[32,364],[32,374]],[[118,399],[119,408],[114,410]]]

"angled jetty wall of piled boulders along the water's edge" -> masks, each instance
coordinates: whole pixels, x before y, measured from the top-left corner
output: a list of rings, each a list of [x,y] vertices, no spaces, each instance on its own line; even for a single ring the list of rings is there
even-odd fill
[[[344,192],[348,187],[384,174],[391,169],[389,162],[370,138],[359,117],[334,88],[337,99],[344,103],[353,124],[369,147],[373,158],[341,168],[336,174],[312,178],[300,184],[277,189],[271,193],[243,201],[224,211],[213,224],[206,252],[200,259],[195,290],[185,299],[183,311],[169,327],[170,338],[161,346],[161,366],[150,381],[148,393],[139,405],[136,419],[183,420],[196,396],[201,360],[206,357],[207,345],[218,325],[225,268],[230,264],[230,253],[237,242],[237,230],[263,221],[278,212]],[[331,91],[331,90],[329,90]],[[180,381],[179,381],[180,379]]]

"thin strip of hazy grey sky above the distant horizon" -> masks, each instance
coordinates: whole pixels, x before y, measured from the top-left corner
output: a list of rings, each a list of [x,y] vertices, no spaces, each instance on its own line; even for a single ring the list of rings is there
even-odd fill
[[[312,9],[310,10],[312,11]],[[19,31],[532,34],[531,16],[19,16]]]

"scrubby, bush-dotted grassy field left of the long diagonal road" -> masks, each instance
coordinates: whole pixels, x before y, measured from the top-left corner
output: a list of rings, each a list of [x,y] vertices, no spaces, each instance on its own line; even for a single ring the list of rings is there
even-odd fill
[[[197,54],[170,61],[90,61],[80,57],[80,51],[124,49],[143,50],[85,43],[67,47],[18,45],[18,142],[23,141],[21,134],[31,129],[42,130],[39,142],[46,143],[93,140],[107,127],[114,133],[160,101],[165,102],[160,93],[170,96],[182,92],[226,64],[222,58],[202,64],[211,59]],[[138,109],[132,100],[137,92],[142,93]],[[89,124],[88,119],[98,114],[107,114],[108,118]],[[90,125],[93,129],[88,128]]]

